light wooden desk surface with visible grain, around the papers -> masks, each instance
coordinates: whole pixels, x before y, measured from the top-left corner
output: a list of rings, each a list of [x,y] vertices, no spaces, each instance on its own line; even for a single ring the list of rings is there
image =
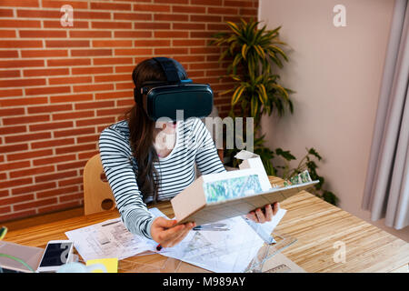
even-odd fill
[[[270,181],[280,182],[274,177],[270,177]],[[157,207],[166,216],[173,216],[170,203],[161,203]],[[284,249],[282,253],[305,271],[408,272],[409,244],[404,240],[305,191],[284,200],[281,207],[286,209],[287,213],[274,231],[297,239],[296,243]],[[67,239],[66,231],[118,216],[119,213],[114,209],[89,216],[73,217],[11,231],[5,236],[5,240],[25,246],[45,247],[49,240]],[[334,254],[339,251],[339,242],[344,243],[345,247],[344,263],[334,262]],[[161,260],[163,262],[164,259],[165,257],[160,255],[135,256],[119,262],[118,269],[125,269],[127,264],[145,264],[146,260],[162,264]],[[206,272],[202,268],[186,263],[178,261],[178,264],[179,272]]]

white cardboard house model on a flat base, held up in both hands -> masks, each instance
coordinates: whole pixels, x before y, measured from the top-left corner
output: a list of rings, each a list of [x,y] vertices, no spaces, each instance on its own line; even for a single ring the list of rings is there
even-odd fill
[[[294,196],[318,181],[272,188],[259,156],[247,151],[240,170],[200,176],[171,200],[178,224],[195,221],[197,226],[243,216],[258,207]]]

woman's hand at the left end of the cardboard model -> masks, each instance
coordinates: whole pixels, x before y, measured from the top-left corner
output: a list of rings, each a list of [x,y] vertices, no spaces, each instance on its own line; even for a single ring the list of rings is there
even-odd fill
[[[156,243],[163,247],[171,247],[180,243],[189,231],[196,226],[195,223],[189,222],[183,225],[175,226],[176,220],[156,217],[151,226],[151,236]]]

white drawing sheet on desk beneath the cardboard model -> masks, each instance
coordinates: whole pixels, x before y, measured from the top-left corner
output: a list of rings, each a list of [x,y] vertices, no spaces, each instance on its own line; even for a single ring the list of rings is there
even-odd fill
[[[253,227],[242,216],[220,220],[217,223],[224,223],[229,231],[191,231],[180,244],[164,248],[160,254],[213,272],[244,272],[264,240],[274,242],[270,234],[285,212],[279,209],[271,222]]]

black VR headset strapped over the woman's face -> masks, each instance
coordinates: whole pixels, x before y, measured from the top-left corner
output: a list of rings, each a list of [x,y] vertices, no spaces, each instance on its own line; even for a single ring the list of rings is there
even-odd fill
[[[156,121],[167,117],[180,120],[176,110],[183,110],[183,119],[203,118],[213,109],[213,91],[208,84],[195,84],[192,80],[181,80],[174,62],[167,57],[153,58],[166,75],[166,81],[149,81],[141,85],[140,91],[134,89],[137,105],[141,105],[146,115]],[[177,118],[176,118],[177,117]]]

